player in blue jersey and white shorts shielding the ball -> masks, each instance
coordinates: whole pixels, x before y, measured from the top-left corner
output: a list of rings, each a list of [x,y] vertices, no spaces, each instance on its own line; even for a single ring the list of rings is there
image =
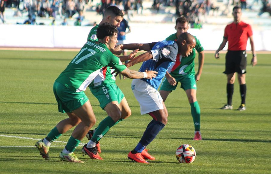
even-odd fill
[[[146,151],[146,146],[154,140],[157,134],[167,124],[168,116],[167,109],[157,88],[165,76],[167,69],[176,60],[177,54],[180,54],[183,57],[190,55],[195,45],[195,38],[186,32],[182,33],[176,42],[162,41],[150,44],[123,45],[123,49],[131,50],[139,48],[148,51],[126,63],[127,67],[130,67],[139,61],[144,61],[139,69],[140,72],[143,72],[145,69],[158,72],[157,76],[152,80],[138,79],[132,81],[131,88],[140,104],[141,114],[148,113],[153,120],[147,125],[147,128],[135,149],[129,152],[129,159],[138,163],[148,163],[145,160],[146,158],[143,156],[143,153]],[[155,158],[151,156],[149,159],[154,160]]]

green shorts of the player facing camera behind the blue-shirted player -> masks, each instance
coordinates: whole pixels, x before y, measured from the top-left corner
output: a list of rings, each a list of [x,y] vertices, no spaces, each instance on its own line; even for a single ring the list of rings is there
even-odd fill
[[[173,76],[174,77],[174,76]],[[167,81],[167,78],[164,77],[163,83],[160,87],[160,91],[173,91],[176,89],[178,83],[181,83],[181,88],[183,90],[187,89],[197,89],[197,84],[196,84],[196,79],[194,74],[188,74],[185,76],[177,76],[174,77],[176,79],[177,84],[175,86],[170,85],[169,82]]]

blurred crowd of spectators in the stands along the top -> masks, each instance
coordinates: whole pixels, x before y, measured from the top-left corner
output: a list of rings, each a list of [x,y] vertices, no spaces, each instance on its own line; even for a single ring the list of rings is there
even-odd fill
[[[222,15],[231,13],[231,9],[228,8],[230,5],[239,4],[243,9],[251,9],[254,4],[262,3],[258,15],[268,12],[271,16],[270,1],[254,0],[253,4],[248,5],[246,0],[227,0],[227,7]],[[103,15],[105,8],[115,5],[125,12],[128,20],[134,13],[142,14],[143,10],[143,0],[101,0],[97,4],[94,4],[93,0],[0,0],[0,18],[4,23],[5,7],[7,7],[16,9],[14,16],[22,16],[22,13],[28,14],[29,19],[23,24],[36,24],[36,16],[39,16],[53,18],[51,25],[55,25],[55,18],[59,15],[63,19],[62,24],[67,25],[66,18],[73,18],[77,14],[74,25],[80,26],[84,20],[86,5],[92,6],[92,9],[101,15]],[[206,20],[206,17],[210,13],[216,16],[219,11],[216,0],[153,0],[152,9],[157,13],[159,13],[161,6],[176,7],[176,16],[187,17],[192,28],[202,28],[202,22]]]

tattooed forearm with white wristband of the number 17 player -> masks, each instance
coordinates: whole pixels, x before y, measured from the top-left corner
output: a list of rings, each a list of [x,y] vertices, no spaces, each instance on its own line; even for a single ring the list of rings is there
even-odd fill
[[[156,71],[145,70],[145,72],[139,72],[135,70],[130,70],[129,68],[125,68],[120,73],[130,79],[143,79],[143,78],[152,79],[152,78],[155,78],[157,74]]]

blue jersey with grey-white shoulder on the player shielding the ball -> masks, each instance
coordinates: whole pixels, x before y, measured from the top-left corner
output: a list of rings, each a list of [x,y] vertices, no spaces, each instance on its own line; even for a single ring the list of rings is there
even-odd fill
[[[151,79],[141,79],[146,81],[148,84],[153,86],[156,90],[162,82],[167,69],[176,61],[176,56],[178,53],[178,45],[174,41],[161,41],[157,42],[150,51],[152,54],[152,59],[144,61],[139,69],[140,72],[145,72],[145,70],[157,71],[158,74],[155,78]]]

